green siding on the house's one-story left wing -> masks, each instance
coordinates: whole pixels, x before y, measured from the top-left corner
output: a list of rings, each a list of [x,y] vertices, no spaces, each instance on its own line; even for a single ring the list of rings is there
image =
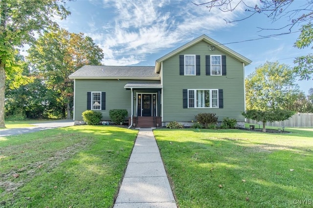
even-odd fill
[[[87,92],[106,92],[106,110],[100,110],[101,120],[110,120],[111,109],[127,109],[128,116],[131,116],[131,90],[124,88],[130,82],[159,83],[157,80],[75,80],[75,121],[81,121],[82,113],[87,110]],[[135,96],[135,93],[134,93]],[[135,100],[132,98],[132,101]],[[134,106],[135,108],[135,106]]]

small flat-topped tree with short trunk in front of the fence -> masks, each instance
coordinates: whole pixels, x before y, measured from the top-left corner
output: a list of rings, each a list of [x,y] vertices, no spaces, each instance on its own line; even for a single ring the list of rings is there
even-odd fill
[[[266,132],[265,125],[267,122],[285,121],[289,119],[294,112],[290,110],[273,110],[273,111],[262,111],[262,110],[246,110],[242,113],[247,119],[253,119],[263,123],[263,132]]]

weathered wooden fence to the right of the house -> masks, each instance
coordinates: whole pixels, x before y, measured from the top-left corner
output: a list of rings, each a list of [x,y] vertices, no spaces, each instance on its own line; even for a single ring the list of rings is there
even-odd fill
[[[262,125],[262,122],[251,119],[246,119],[246,123]],[[266,125],[276,127],[313,127],[313,113],[296,113],[288,120],[282,122],[267,122]]]

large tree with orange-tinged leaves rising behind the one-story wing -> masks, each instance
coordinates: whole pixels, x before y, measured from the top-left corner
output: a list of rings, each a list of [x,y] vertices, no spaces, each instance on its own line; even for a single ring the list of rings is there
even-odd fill
[[[59,102],[71,118],[73,81],[68,75],[87,64],[100,64],[104,55],[90,37],[69,33],[65,29],[45,32],[28,50],[27,59],[49,89],[60,93]],[[65,113],[65,111],[64,111]]]

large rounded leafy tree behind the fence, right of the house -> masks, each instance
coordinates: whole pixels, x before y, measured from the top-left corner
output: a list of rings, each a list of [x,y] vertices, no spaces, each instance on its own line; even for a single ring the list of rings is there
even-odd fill
[[[298,85],[289,65],[266,62],[246,78],[246,109],[283,109],[298,94]]]

